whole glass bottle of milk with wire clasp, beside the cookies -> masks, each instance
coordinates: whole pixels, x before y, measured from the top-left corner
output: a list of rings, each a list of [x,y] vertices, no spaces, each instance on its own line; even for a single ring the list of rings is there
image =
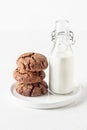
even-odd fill
[[[68,21],[56,21],[52,41],[54,46],[49,58],[49,90],[55,94],[67,94],[74,87],[74,40]]]

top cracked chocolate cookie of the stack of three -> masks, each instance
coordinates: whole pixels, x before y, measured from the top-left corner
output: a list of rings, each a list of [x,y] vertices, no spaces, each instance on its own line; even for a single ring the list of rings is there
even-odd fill
[[[42,71],[48,67],[47,58],[40,53],[24,53],[16,61],[21,73]]]

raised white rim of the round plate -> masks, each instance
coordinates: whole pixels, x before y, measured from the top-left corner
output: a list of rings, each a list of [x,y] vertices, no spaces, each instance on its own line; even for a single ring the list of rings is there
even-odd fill
[[[81,95],[81,91],[82,91],[82,86],[79,85],[78,86],[78,88],[79,88],[78,93],[76,93],[76,95],[74,94],[74,96],[72,95],[69,99],[62,100],[60,102],[59,101],[54,102],[54,103],[49,103],[49,102],[45,102],[45,103],[35,103],[34,102],[34,103],[31,103],[30,101],[26,101],[26,100],[23,100],[23,99],[15,96],[15,94],[13,93],[13,89],[15,89],[15,83],[16,82],[14,82],[10,86],[11,99],[13,99],[13,101],[16,102],[16,103],[18,102],[18,104],[21,104],[21,105],[29,107],[29,108],[34,108],[34,109],[53,109],[53,108],[55,109],[55,108],[65,107],[69,104],[72,104],[74,101],[76,101],[78,99],[78,97]],[[22,97],[22,95],[20,95],[18,93],[16,93],[16,94]],[[24,98],[26,98],[26,97],[24,97]],[[29,98],[33,98],[33,97],[29,97]],[[36,97],[34,97],[34,98],[36,98]]]

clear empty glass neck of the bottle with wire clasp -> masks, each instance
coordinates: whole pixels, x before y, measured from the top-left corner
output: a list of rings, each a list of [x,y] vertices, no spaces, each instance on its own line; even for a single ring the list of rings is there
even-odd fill
[[[75,43],[74,34],[70,31],[68,21],[56,21],[51,36],[52,41],[54,42],[51,52],[73,52],[72,45]]]

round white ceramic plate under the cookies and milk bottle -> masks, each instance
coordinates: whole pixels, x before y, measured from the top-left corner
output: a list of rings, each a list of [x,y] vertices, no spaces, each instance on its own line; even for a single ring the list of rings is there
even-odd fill
[[[21,106],[37,108],[37,109],[52,109],[69,105],[77,101],[81,96],[82,87],[74,87],[72,93],[67,95],[53,95],[48,93],[44,96],[26,97],[18,94],[15,90],[15,83],[11,86],[11,99]]]

